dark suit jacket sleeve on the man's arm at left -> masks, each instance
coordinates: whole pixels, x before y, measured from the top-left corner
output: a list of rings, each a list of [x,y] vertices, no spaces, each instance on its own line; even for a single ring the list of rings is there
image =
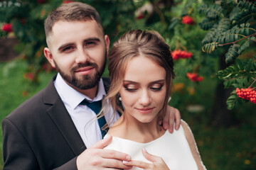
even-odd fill
[[[39,169],[36,157],[21,132],[16,128],[16,125],[8,118],[2,122],[3,129],[3,153],[4,153],[4,169],[20,169],[20,170],[35,170]],[[76,159],[71,159],[69,162],[55,168],[56,170],[77,170]]]

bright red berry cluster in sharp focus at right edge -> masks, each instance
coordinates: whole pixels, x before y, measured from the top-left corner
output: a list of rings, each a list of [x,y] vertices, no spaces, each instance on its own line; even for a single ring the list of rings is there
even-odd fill
[[[245,99],[247,101],[251,101],[252,103],[256,104],[256,91],[250,87],[247,89],[239,89],[237,88],[235,92],[238,94],[238,96],[242,99]]]

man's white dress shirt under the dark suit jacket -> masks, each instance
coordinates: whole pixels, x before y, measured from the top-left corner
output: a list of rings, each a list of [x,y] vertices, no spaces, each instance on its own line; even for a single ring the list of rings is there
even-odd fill
[[[90,145],[93,145],[95,142],[102,140],[100,126],[95,113],[87,106],[79,104],[85,98],[87,101],[100,101],[106,96],[102,79],[100,79],[99,82],[97,96],[93,98],[93,100],[66,84],[60,74],[57,75],[54,81],[54,86],[60,95],[65,108],[70,114],[70,117],[72,118],[73,123],[75,124],[75,127],[82,138],[82,141],[85,143],[85,146],[90,147]],[[110,108],[110,111],[105,114],[105,119],[107,122],[110,120],[112,113],[114,113],[114,120],[112,123],[119,118],[117,111],[113,112],[113,109]]]

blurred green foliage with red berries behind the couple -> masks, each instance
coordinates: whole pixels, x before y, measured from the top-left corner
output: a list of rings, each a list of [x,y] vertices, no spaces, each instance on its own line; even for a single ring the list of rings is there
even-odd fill
[[[191,125],[203,162],[208,169],[256,169],[255,105],[243,101],[235,88],[247,88],[256,78],[255,1],[235,0],[81,0],[94,6],[102,18],[105,33],[114,42],[133,28],[159,31],[170,50],[193,52],[189,59],[175,62],[176,79],[171,106]],[[14,33],[0,31],[3,38],[16,37],[19,44],[16,60],[0,64],[1,119],[31,97],[50,80],[43,47],[46,40],[43,21],[63,0],[0,1],[0,26],[11,23]],[[142,6],[153,6],[135,15]],[[194,24],[182,23],[183,16]],[[7,40],[6,39],[6,40]],[[227,66],[220,68],[220,56]],[[46,67],[48,69],[46,69]],[[50,71],[50,72],[49,72]],[[187,72],[196,72],[204,81],[192,82]],[[24,79],[33,73],[35,79]],[[108,76],[107,69],[105,76]],[[233,91],[227,105],[233,111],[230,127],[211,125],[216,85],[223,83]],[[252,84],[252,88],[256,86]],[[13,89],[16,89],[15,91]],[[24,93],[26,95],[24,95]],[[23,96],[22,96],[23,94]],[[14,99],[15,98],[15,99]],[[16,99],[18,98],[18,99]],[[14,101],[13,104],[12,101]],[[1,137],[2,138],[2,137]],[[0,139],[1,140],[1,139]],[[1,161],[3,164],[3,161]],[[1,169],[1,165],[0,165]]]

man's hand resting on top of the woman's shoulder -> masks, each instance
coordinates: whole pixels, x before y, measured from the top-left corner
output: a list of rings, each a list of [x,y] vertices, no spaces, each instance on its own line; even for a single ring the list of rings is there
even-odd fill
[[[181,125],[181,113],[178,111],[178,109],[173,108],[171,106],[167,106],[166,114],[164,115],[164,120],[162,122],[159,122],[160,125],[163,125],[163,128],[165,130],[169,130],[169,132],[174,132],[174,122],[175,122],[175,129],[178,130],[178,128]]]

